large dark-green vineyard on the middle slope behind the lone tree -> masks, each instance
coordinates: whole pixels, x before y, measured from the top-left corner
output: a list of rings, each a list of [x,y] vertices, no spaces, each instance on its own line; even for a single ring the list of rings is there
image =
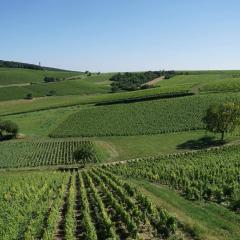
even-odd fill
[[[70,115],[51,137],[147,135],[203,128],[210,104],[239,101],[239,94],[212,94],[115,104]]]

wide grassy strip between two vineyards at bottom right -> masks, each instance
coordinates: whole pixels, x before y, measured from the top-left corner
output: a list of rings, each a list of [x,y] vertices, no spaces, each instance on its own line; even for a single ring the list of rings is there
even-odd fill
[[[157,206],[174,215],[187,239],[239,239],[239,217],[215,203],[189,201],[178,192],[157,183],[130,179]]]

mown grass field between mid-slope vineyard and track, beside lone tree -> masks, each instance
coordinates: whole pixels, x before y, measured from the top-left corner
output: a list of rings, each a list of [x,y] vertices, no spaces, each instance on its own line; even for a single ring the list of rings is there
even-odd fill
[[[143,136],[113,136],[99,137],[97,140],[108,143],[107,149],[113,149],[116,154],[111,161],[154,156],[157,154],[177,153],[192,150],[192,146],[182,147],[188,142],[199,142],[206,136],[205,131],[187,131]],[[214,136],[208,133],[208,136]],[[92,139],[92,138],[90,138]],[[237,136],[227,136],[227,141],[234,141]],[[109,146],[110,145],[110,146]]]

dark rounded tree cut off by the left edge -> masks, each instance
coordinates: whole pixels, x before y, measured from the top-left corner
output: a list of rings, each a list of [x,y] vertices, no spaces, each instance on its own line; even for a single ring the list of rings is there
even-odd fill
[[[19,127],[16,123],[10,120],[0,120],[0,138],[15,138],[18,131]]]

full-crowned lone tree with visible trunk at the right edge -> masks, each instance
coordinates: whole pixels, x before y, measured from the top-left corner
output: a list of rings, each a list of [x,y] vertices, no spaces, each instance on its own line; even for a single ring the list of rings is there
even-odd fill
[[[203,123],[206,130],[213,133],[221,133],[221,141],[224,140],[224,134],[232,132],[239,124],[240,106],[237,103],[228,102],[218,105],[212,105],[208,108]]]

